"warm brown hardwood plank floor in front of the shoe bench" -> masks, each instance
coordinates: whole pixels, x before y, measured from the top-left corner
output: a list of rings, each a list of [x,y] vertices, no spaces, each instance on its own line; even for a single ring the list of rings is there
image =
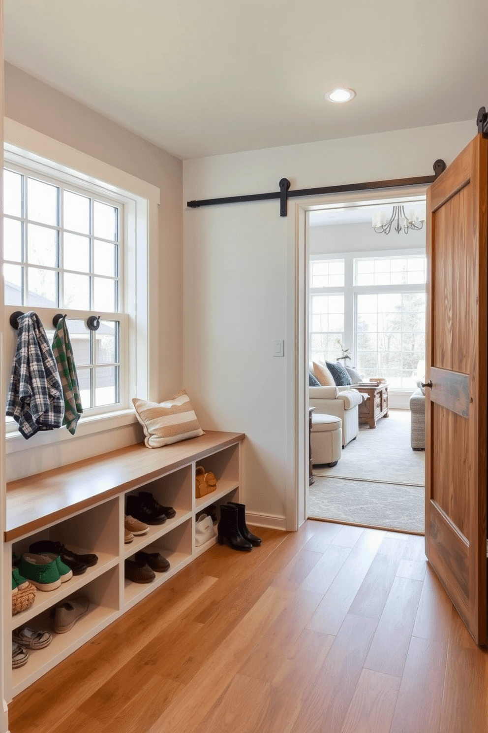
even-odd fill
[[[423,537],[255,531],[260,548],[215,545],[20,693],[10,732],[487,733],[488,652]]]

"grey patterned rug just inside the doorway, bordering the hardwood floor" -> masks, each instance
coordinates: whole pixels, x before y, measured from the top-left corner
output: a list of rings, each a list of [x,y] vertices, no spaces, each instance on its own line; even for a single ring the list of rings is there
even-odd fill
[[[423,534],[424,487],[315,476],[308,515]]]

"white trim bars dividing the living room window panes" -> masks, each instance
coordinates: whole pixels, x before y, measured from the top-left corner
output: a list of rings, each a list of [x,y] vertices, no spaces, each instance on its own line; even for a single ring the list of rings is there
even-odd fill
[[[321,262],[329,259],[343,259],[345,268],[344,287],[309,287],[309,312],[312,308],[312,295],[326,295],[344,293],[344,343],[351,349],[351,358],[356,362],[356,295],[361,293],[391,292],[391,288],[401,288],[402,292],[418,292],[418,285],[354,285],[354,260],[355,259],[391,259],[393,257],[425,257],[423,248],[405,249],[380,249],[375,251],[358,252],[324,252],[323,254],[311,254],[309,256],[310,266],[312,262]],[[424,286],[425,287],[425,286]],[[310,334],[309,334],[310,338]],[[310,349],[310,345],[309,345]],[[412,394],[412,389],[407,387],[390,387],[388,391],[397,394],[399,397]]]

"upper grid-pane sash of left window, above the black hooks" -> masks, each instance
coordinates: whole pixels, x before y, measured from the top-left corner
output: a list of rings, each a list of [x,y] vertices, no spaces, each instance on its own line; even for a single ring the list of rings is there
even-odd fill
[[[121,206],[4,170],[5,304],[119,312]]]

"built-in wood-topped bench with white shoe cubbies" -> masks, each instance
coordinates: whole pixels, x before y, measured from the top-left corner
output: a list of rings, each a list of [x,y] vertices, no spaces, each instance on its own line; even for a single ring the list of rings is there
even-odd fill
[[[7,485],[7,531],[4,536],[5,577],[13,556],[29,552],[39,540],[61,542],[78,554],[95,553],[97,564],[53,591],[37,590],[34,603],[11,615],[4,603],[4,628],[12,633],[29,625],[48,630],[53,639],[45,649],[29,652],[25,666],[11,669],[7,647],[4,659],[5,692],[8,699],[24,690],[49,669],[67,658],[135,603],[157,591],[195,556],[211,547],[195,547],[195,516],[211,504],[239,501],[241,433],[206,432],[199,438],[161,449],[143,444],[129,446],[30,476]],[[203,465],[217,477],[217,489],[195,498],[195,468]],[[127,496],[149,492],[174,517],[149,526],[146,534],[124,542]],[[143,550],[160,553],[170,562],[165,572],[156,572],[151,583],[135,583],[124,575],[124,562]],[[10,588],[4,588],[10,597]],[[59,603],[83,595],[89,610],[66,633],[55,633],[54,609]],[[7,610],[8,609],[8,610]]]

